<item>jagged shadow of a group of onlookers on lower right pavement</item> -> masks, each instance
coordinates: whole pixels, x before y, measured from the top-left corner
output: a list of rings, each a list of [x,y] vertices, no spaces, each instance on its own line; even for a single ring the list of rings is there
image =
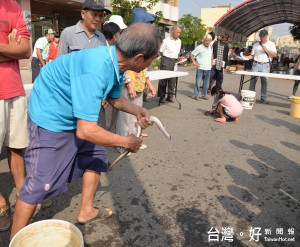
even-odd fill
[[[296,237],[298,242],[300,235],[291,236],[288,232],[300,227],[300,216],[296,214],[300,209],[299,164],[266,146],[249,146],[237,140],[230,140],[230,143],[251,150],[258,158],[247,160],[249,168],[254,170],[252,173],[240,169],[239,164],[225,166],[234,180],[234,184],[228,186],[232,196],[219,196],[218,199],[228,212],[239,218],[236,230],[260,227],[262,243],[271,246],[263,237],[276,237],[275,230],[282,228],[282,237]],[[254,210],[248,210],[248,205]],[[271,229],[270,235],[266,235],[265,229]]]

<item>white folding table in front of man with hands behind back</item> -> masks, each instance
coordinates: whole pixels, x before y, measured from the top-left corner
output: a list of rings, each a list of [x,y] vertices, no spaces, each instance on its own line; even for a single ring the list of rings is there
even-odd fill
[[[174,96],[175,96],[176,101],[179,104],[179,110],[180,110],[181,103],[177,99],[178,77],[187,76],[189,73],[182,72],[182,71],[172,71],[172,70],[154,70],[154,71],[148,71],[148,74],[149,74],[149,78],[151,81],[169,79],[169,78],[174,78],[174,77],[176,78]],[[158,105],[160,105],[160,101],[158,101]]]

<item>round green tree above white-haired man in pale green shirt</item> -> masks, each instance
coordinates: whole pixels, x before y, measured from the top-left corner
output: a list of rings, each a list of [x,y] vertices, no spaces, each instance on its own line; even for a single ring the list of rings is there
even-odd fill
[[[201,19],[188,14],[183,15],[178,23],[182,27],[182,32],[180,34],[182,45],[192,45],[196,41],[198,43],[201,42],[206,33],[206,27],[202,24]]]

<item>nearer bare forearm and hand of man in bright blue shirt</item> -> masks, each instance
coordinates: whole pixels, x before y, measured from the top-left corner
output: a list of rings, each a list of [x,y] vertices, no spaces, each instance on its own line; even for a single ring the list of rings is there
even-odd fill
[[[76,136],[79,139],[102,146],[117,146],[137,152],[142,145],[142,139],[134,136],[119,136],[101,128],[97,122],[77,120]]]

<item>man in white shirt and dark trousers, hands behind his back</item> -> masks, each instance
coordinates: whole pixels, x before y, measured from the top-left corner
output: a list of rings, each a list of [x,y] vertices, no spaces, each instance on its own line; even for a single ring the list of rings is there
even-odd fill
[[[160,69],[161,70],[174,70],[174,66],[178,61],[178,54],[181,49],[181,40],[179,35],[181,33],[181,27],[175,25],[171,28],[171,35],[163,40],[161,48],[159,50],[162,55]],[[175,90],[176,78],[159,80],[157,96],[159,97],[160,103],[165,103],[165,95],[167,96],[167,101],[174,103],[173,99]],[[168,86],[168,92],[167,92]]]

